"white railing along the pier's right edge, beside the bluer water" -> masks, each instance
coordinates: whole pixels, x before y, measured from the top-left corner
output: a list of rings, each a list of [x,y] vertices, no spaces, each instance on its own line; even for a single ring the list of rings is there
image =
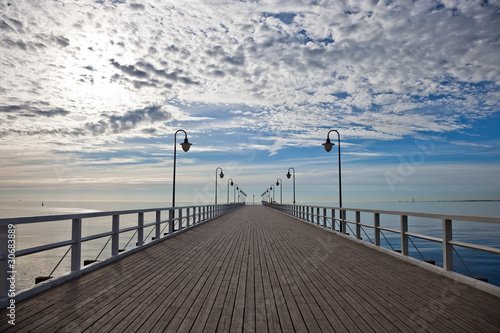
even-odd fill
[[[339,208],[339,207],[320,207],[320,206],[307,206],[307,205],[279,205],[279,204],[266,204],[266,206],[274,208],[276,210],[282,211],[286,214],[295,216],[297,218],[303,219],[305,221],[332,229],[335,231],[341,231],[343,234],[347,234],[347,228],[352,232],[351,236],[357,239],[362,239],[362,228],[372,229],[373,240],[365,232],[365,235],[369,238],[370,242],[376,246],[380,246],[380,236],[385,238],[383,231],[387,231],[394,234],[399,234],[401,246],[400,252],[402,255],[408,256],[409,253],[409,241],[411,238],[418,238],[426,241],[431,241],[435,243],[442,244],[443,253],[443,269],[447,271],[453,271],[453,253],[454,246],[468,248],[481,252],[493,253],[500,255],[500,248],[472,244],[469,242],[459,241],[453,238],[453,222],[454,221],[467,221],[472,223],[482,222],[491,223],[499,225],[500,231],[500,218],[497,217],[482,217],[482,216],[463,216],[463,215],[444,215],[444,214],[430,214],[430,213],[413,213],[413,212],[399,212],[399,211],[385,211],[385,210],[373,210],[373,209],[354,209],[354,208]],[[337,212],[337,215],[336,215]],[[347,219],[347,212],[354,213],[354,220]],[[366,220],[361,220],[361,213],[368,213],[372,216],[371,223],[367,223]],[[386,227],[381,226],[381,215],[391,215],[399,217],[399,228],[396,227]],[[440,237],[423,235],[416,232],[409,232],[409,217],[412,218],[425,218],[441,221],[440,226]],[[349,225],[354,225],[354,230],[349,227]],[[336,230],[338,226],[338,230]],[[413,244],[413,241],[411,241]],[[413,244],[414,245],[414,244]],[[500,245],[500,244],[499,244]],[[392,245],[391,245],[392,247]],[[418,249],[417,249],[418,251]]]

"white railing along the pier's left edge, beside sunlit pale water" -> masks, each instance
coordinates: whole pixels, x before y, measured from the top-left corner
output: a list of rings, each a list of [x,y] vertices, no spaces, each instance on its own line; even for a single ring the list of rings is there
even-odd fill
[[[135,245],[137,248],[141,248],[146,245],[147,241],[149,241],[149,243],[152,241],[158,242],[161,238],[171,237],[176,233],[186,230],[187,228],[194,227],[202,222],[206,222],[215,217],[226,214],[243,205],[244,203],[233,203],[226,205],[151,208],[86,214],[0,219],[0,299],[5,300],[7,297],[11,297],[9,296],[9,288],[11,288],[12,281],[11,277],[14,273],[16,273],[12,268],[15,265],[15,260],[19,257],[69,246],[70,249],[68,252],[70,252],[71,272],[77,272],[82,269],[82,244],[85,242],[105,237],[110,238],[111,257],[117,257],[123,252],[123,249],[120,249],[120,235],[123,233],[134,231],[136,236],[134,235],[133,238],[137,240]],[[162,212],[168,213],[166,214],[168,215],[167,219],[161,218]],[[155,213],[154,221],[145,221],[145,213]],[[120,217],[125,215],[129,216],[131,214],[137,215],[137,225],[120,228]],[[82,236],[82,222],[87,219],[98,217],[111,217],[111,231]],[[71,223],[71,239],[25,248],[22,250],[15,250],[15,241],[12,240],[15,240],[16,237],[16,227],[21,224],[51,223],[55,221],[67,221],[68,224]],[[150,235],[150,232],[150,234],[145,236],[145,230],[147,228],[149,228],[151,232],[154,230],[154,235]],[[130,239],[129,242],[127,242],[127,245],[129,243]],[[51,276],[46,278],[51,278]]]

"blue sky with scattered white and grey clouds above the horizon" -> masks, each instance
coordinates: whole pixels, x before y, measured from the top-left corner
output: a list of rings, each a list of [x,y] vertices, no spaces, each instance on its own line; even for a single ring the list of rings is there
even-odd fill
[[[291,203],[293,168],[337,206],[339,136],[343,202],[500,199],[499,1],[0,0],[0,31],[0,200],[170,204],[179,129],[177,202],[220,167],[219,203]]]

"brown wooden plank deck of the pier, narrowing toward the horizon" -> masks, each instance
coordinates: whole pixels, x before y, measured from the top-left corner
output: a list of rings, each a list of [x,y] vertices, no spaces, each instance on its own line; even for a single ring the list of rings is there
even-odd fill
[[[247,206],[16,304],[5,332],[500,332],[500,298]]]

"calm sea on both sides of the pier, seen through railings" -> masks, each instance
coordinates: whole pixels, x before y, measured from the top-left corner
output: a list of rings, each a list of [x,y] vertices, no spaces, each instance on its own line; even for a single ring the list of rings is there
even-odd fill
[[[337,207],[332,202],[307,202],[297,204]],[[189,202],[179,202],[177,206],[191,206]],[[92,201],[0,201],[0,219],[12,217],[33,217],[46,215],[83,214],[92,212],[123,211],[145,208],[167,208],[165,202],[92,202]],[[468,202],[353,202],[344,203],[345,208],[376,209],[398,212],[435,213],[451,215],[488,216],[500,218],[500,201]],[[354,221],[355,213],[348,212],[347,220]],[[145,223],[154,221],[154,212],[145,214]],[[166,216],[162,216],[166,219]],[[373,214],[361,213],[361,221],[373,224]],[[383,227],[399,229],[398,215],[380,216]],[[137,215],[124,215],[120,219],[120,228],[137,225]],[[409,217],[409,231],[441,238],[441,220]],[[354,237],[354,226],[347,232]],[[82,236],[111,231],[111,217],[84,219]],[[146,228],[146,241],[154,235],[153,227]],[[16,250],[41,246],[71,239],[71,221],[34,223],[16,227]],[[373,241],[373,229],[364,227],[362,238]],[[453,239],[500,248],[500,224],[477,222],[453,222]],[[82,245],[83,260],[103,260],[111,256],[109,237],[85,242]],[[120,235],[120,249],[135,246],[137,236],[134,232]],[[400,250],[400,235],[383,231],[381,246],[389,250]],[[488,283],[500,286],[500,255],[455,247],[454,271],[476,278],[486,278]],[[35,278],[40,276],[60,276],[70,271],[69,246],[16,258],[16,289],[22,291],[32,288]],[[440,243],[411,237],[409,255],[426,261],[434,261],[442,267],[442,246]]]

